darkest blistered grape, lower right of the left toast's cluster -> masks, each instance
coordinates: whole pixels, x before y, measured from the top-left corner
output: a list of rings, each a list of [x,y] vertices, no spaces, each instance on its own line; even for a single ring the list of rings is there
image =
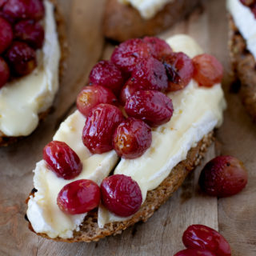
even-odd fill
[[[26,42],[13,42],[6,53],[6,59],[17,76],[30,74],[37,66],[35,51]]]

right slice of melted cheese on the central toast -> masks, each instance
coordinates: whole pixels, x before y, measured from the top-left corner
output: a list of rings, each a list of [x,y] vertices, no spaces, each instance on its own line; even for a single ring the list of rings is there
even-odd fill
[[[190,58],[202,54],[198,44],[186,35],[174,36],[167,42],[174,51],[183,51]],[[191,147],[222,124],[222,111],[226,107],[220,84],[206,88],[191,80],[185,89],[168,97],[174,104],[170,122],[152,131],[152,144],[145,154],[134,160],[122,159],[114,170],[114,174],[125,174],[138,182],[143,202],[146,192],[158,187],[174,166],[186,159]],[[111,214],[104,206],[98,208],[99,227],[126,219]]]

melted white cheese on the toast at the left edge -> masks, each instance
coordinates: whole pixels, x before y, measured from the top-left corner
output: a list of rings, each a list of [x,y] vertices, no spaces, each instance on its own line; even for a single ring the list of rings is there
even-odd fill
[[[60,47],[54,6],[45,1],[45,42],[38,51],[38,66],[29,75],[9,82],[0,90],[0,131],[6,136],[26,136],[38,126],[58,90]]]

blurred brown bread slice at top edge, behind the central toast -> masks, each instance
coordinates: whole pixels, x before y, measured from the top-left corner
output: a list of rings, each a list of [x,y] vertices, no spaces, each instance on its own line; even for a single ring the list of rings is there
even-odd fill
[[[166,4],[154,18],[144,19],[132,6],[124,5],[118,0],[107,0],[103,33],[106,38],[118,42],[159,34],[185,18],[199,2],[200,0],[175,0]]]

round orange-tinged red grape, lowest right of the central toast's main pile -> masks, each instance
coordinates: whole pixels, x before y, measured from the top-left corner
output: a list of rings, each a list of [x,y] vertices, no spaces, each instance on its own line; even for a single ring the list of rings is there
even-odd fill
[[[122,158],[140,157],[150,147],[152,134],[150,126],[136,118],[127,118],[114,132],[114,150]]]

